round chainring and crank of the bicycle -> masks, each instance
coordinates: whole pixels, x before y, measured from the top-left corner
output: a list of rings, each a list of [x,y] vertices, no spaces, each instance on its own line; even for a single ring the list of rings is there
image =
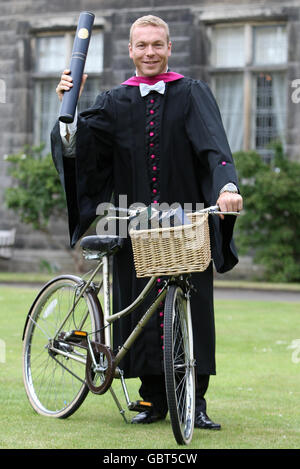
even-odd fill
[[[96,366],[88,350],[85,377],[89,390],[94,394],[104,394],[111,386],[115,376],[115,357],[109,347],[91,342]]]

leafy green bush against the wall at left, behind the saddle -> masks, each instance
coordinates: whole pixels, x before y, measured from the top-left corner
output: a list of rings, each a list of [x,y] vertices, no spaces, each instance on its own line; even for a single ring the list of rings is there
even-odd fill
[[[44,233],[49,244],[58,246],[50,230],[50,219],[67,218],[66,199],[50,154],[43,154],[44,145],[26,146],[17,154],[7,155],[8,174],[13,185],[5,191],[5,202],[21,222]],[[76,269],[82,270],[82,255],[64,246],[73,257]]]

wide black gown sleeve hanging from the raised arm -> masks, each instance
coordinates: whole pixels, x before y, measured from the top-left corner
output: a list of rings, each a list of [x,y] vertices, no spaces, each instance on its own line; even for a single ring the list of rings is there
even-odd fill
[[[52,157],[65,189],[72,247],[113,192],[114,109],[109,92],[78,116],[75,158],[63,156],[59,123],[51,133]]]

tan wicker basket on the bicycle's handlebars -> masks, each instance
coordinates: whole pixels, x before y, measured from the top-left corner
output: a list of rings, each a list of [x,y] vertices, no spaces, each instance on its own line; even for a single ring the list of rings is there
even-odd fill
[[[191,224],[129,231],[137,277],[202,272],[208,267],[208,214],[187,216]]]

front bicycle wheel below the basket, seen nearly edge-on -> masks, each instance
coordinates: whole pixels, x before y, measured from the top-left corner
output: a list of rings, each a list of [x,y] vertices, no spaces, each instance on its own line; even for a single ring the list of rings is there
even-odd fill
[[[164,369],[170,420],[178,444],[189,444],[195,419],[195,371],[190,302],[171,285],[164,310]]]

